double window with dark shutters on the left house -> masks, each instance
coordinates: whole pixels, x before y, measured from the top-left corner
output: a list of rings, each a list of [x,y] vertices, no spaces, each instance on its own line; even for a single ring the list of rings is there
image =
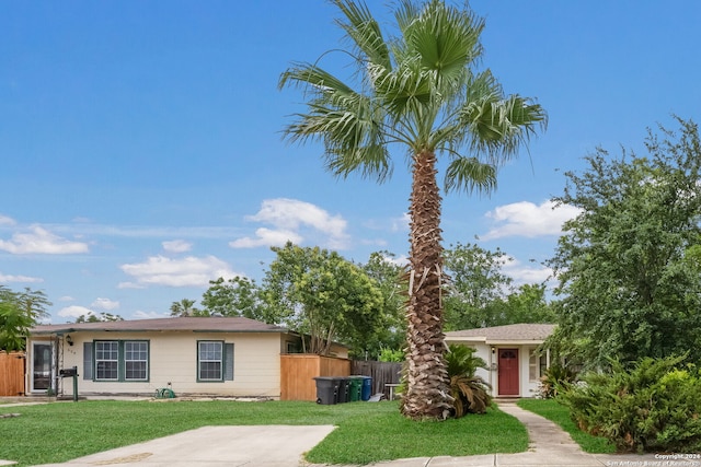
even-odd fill
[[[85,342],[83,349],[87,364],[91,350],[89,346],[90,343]],[[146,340],[97,340],[94,342],[94,369],[95,381],[148,381],[149,342]]]

